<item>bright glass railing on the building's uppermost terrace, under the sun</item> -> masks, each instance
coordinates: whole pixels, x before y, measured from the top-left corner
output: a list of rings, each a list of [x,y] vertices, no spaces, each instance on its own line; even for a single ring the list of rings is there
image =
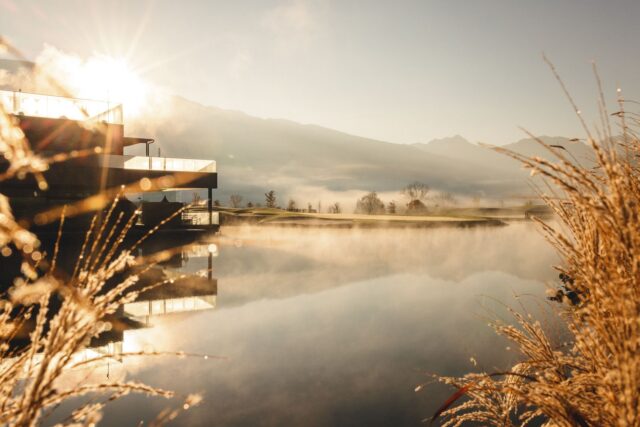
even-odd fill
[[[107,101],[0,90],[0,105],[14,115],[123,123],[122,105]]]

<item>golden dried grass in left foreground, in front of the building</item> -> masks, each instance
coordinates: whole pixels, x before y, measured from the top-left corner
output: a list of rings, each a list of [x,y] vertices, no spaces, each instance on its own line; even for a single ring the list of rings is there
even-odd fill
[[[2,44],[6,45],[6,42],[0,38]],[[48,165],[65,160],[64,155],[44,159],[32,152],[16,119],[1,110],[1,106],[0,156],[10,163],[5,173],[0,175],[0,184],[6,179],[33,175],[42,190],[47,188],[43,173]],[[129,393],[173,396],[171,391],[131,381],[75,385],[65,381],[65,373],[70,369],[90,364],[78,362],[74,356],[93,338],[110,328],[103,319],[149,289],[134,289],[138,275],[128,274],[128,269],[134,265],[150,268],[163,259],[163,254],[144,260],[134,258],[133,249],[148,235],[133,246],[125,246],[127,232],[135,224],[139,212],[129,218],[124,218],[123,214],[115,215],[120,197],[122,191],[115,194],[115,200],[113,194],[103,197],[113,200],[110,206],[106,202],[106,212],[102,211],[105,203],[93,204],[92,209],[98,210],[98,214],[85,235],[74,271],[69,277],[56,269],[64,209],[58,212],[62,214],[58,216],[61,218],[60,231],[54,253],[48,258],[40,251],[38,238],[15,220],[8,198],[0,194],[0,254],[4,257],[17,255],[22,260],[21,275],[8,293],[0,294],[0,425],[38,425],[47,409],[56,408],[67,399],[87,395],[91,399],[76,408],[61,425],[95,425],[107,403]],[[81,212],[84,211],[86,209]],[[150,233],[155,230],[157,227]],[[145,268],[141,271],[144,272]],[[28,344],[17,348],[12,342],[25,327],[29,330]],[[148,355],[159,354],[167,353]],[[197,405],[200,400],[198,395],[187,396],[178,409],[167,409],[153,424],[174,419],[179,412]]]

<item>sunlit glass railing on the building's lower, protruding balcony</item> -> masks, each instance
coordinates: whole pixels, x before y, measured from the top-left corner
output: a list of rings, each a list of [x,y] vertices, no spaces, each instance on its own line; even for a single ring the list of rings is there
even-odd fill
[[[119,156],[115,154],[105,155],[104,157],[107,160],[107,166],[112,168],[167,172],[216,172],[216,162],[214,160]]]

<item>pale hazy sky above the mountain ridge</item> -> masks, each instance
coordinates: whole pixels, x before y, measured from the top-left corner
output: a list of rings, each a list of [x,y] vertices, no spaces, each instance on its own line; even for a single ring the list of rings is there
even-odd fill
[[[203,104],[401,143],[581,136],[542,53],[585,113],[592,60],[640,98],[639,18],[637,0],[0,0],[29,57],[127,56]]]

